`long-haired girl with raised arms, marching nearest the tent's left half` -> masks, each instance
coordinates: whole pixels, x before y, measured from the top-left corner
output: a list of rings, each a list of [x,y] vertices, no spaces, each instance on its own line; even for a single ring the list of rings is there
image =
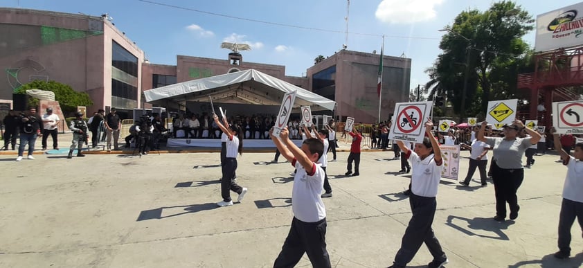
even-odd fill
[[[213,118],[222,132],[228,137],[226,141],[226,155],[221,166],[223,172],[223,177],[221,179],[221,195],[223,200],[218,202],[217,205],[233,206],[230,190],[239,194],[239,198],[237,198],[238,202],[241,202],[247,193],[247,188],[238,186],[233,180],[233,178],[235,178],[235,171],[237,170],[237,152],[239,154],[243,153],[243,141],[238,138],[243,136],[243,131],[238,125],[230,125],[227,129],[226,126],[219,122],[219,116],[214,113]]]

